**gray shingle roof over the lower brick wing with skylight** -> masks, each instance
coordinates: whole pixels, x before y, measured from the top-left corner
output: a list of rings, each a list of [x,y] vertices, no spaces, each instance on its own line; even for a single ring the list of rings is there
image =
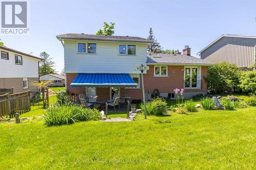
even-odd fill
[[[155,57],[154,57],[155,56]],[[159,57],[156,57],[159,56]],[[181,65],[214,65],[215,63],[211,63],[206,60],[202,60],[200,58],[187,56],[183,54],[151,54],[147,55],[147,63],[150,64],[181,64]]]

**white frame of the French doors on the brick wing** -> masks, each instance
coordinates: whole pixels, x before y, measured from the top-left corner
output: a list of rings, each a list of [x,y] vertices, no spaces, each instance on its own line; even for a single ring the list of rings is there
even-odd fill
[[[190,68],[189,87],[185,87],[186,68]],[[197,68],[197,81],[200,82],[200,83],[197,82],[197,87],[192,87],[191,79],[192,79],[193,68]],[[184,66],[184,89],[201,89],[201,66]]]

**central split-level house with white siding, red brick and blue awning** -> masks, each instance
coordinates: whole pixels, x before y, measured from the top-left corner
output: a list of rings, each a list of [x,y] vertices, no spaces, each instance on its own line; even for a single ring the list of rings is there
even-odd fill
[[[57,39],[64,47],[66,87],[70,93],[85,93],[89,102],[111,100],[118,92],[120,99],[142,99],[140,70],[144,71],[146,99],[155,94],[175,98],[174,89],[184,88],[185,97],[207,93],[203,77],[211,62],[190,56],[186,46],[183,54],[147,54],[151,40],[131,36],[63,34]]]

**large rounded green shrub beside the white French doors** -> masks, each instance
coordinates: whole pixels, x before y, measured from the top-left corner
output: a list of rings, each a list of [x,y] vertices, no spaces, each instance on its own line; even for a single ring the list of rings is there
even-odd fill
[[[240,91],[241,70],[235,64],[218,63],[210,66],[205,80],[208,90],[214,93]]]

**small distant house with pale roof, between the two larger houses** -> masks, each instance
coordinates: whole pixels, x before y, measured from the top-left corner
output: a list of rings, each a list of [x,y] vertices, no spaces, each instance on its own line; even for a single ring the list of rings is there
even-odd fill
[[[57,75],[57,74],[48,74],[44,76],[40,76],[39,78],[40,81],[46,81],[50,80],[52,81],[52,84],[50,85],[51,87],[56,87],[56,86],[64,86],[65,87],[65,76],[62,75]]]

